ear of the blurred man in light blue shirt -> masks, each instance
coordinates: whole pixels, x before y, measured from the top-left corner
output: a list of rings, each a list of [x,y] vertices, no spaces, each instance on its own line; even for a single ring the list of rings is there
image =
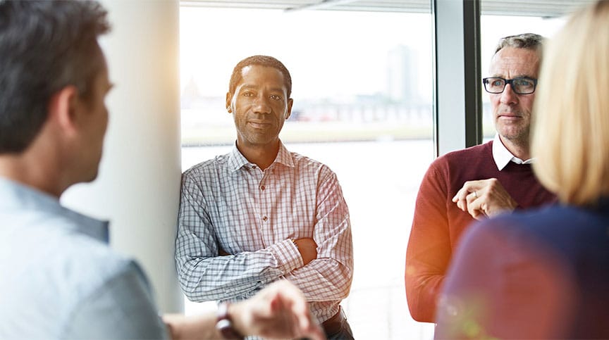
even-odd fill
[[[63,87],[49,100],[48,119],[56,122],[66,134],[73,133],[77,130],[77,105],[78,89],[73,85]]]

